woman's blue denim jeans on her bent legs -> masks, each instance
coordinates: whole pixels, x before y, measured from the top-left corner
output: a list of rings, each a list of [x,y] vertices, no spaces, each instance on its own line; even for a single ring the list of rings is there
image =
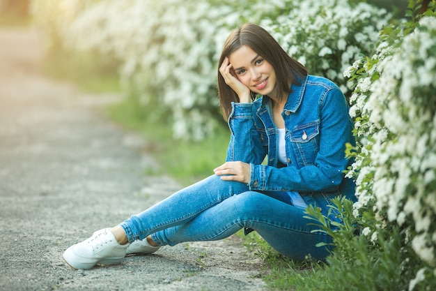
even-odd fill
[[[213,241],[238,230],[256,230],[276,251],[293,260],[311,255],[324,259],[329,250],[316,247],[331,243],[327,234],[308,225],[304,209],[290,204],[283,192],[259,193],[235,181],[212,175],[174,193],[162,202],[120,224],[130,243],[149,234],[159,246],[185,241]]]

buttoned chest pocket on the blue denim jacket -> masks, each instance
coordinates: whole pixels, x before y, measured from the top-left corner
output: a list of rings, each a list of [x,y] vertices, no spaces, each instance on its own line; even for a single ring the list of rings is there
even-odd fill
[[[319,151],[320,121],[295,126],[290,133],[292,150],[300,166],[313,165]]]

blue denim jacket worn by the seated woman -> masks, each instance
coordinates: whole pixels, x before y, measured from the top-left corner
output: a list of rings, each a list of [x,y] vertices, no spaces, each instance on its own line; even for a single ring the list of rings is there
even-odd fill
[[[286,165],[277,158],[277,127],[267,96],[253,103],[232,103],[226,161],[250,164],[251,191],[297,191],[306,204],[327,215],[332,197],[355,200],[354,181],[343,174],[351,163],[345,158],[345,143],[355,144],[349,106],[336,84],[324,77],[309,75],[291,89],[281,114]]]

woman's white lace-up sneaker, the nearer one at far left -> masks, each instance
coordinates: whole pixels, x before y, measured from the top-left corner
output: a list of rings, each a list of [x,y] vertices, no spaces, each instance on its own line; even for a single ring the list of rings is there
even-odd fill
[[[67,248],[63,259],[75,269],[91,269],[96,264],[118,264],[123,261],[128,246],[118,244],[114,234],[105,228]]]

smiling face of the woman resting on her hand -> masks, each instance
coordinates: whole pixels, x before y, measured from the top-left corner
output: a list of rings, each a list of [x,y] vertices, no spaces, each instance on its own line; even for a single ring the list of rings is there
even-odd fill
[[[228,60],[238,80],[260,95],[277,97],[277,79],[274,68],[247,45],[235,50]]]

